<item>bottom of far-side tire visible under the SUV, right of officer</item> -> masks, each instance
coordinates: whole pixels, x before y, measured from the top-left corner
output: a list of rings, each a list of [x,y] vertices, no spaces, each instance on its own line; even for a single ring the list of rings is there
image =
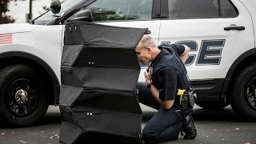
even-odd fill
[[[221,110],[230,104],[223,101],[197,101],[195,103],[206,110]]]

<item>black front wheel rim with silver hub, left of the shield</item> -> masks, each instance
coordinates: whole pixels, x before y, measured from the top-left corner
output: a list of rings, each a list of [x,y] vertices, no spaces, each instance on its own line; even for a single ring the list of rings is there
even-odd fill
[[[6,106],[16,117],[26,117],[37,109],[38,88],[27,78],[19,78],[12,82],[6,90]]]

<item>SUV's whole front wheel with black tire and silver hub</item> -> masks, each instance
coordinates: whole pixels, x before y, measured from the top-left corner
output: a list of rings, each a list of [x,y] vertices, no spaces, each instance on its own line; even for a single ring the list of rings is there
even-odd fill
[[[11,126],[32,126],[48,109],[42,77],[26,65],[0,70],[0,117]]]

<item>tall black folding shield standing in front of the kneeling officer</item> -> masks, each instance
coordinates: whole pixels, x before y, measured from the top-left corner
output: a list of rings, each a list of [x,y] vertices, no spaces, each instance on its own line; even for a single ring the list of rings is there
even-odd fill
[[[61,143],[141,143],[135,52],[147,29],[69,22],[62,52]]]

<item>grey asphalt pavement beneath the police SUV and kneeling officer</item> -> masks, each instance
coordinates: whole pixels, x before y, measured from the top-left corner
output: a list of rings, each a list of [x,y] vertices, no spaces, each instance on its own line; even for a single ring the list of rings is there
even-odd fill
[[[156,113],[141,105],[142,128]],[[204,110],[194,107],[192,113],[198,136],[193,140],[183,139],[163,142],[163,144],[256,144],[256,122],[243,122],[230,106],[222,110]],[[58,106],[50,106],[42,122],[36,126],[9,128],[0,124],[0,143],[4,144],[57,144],[62,124]]]

